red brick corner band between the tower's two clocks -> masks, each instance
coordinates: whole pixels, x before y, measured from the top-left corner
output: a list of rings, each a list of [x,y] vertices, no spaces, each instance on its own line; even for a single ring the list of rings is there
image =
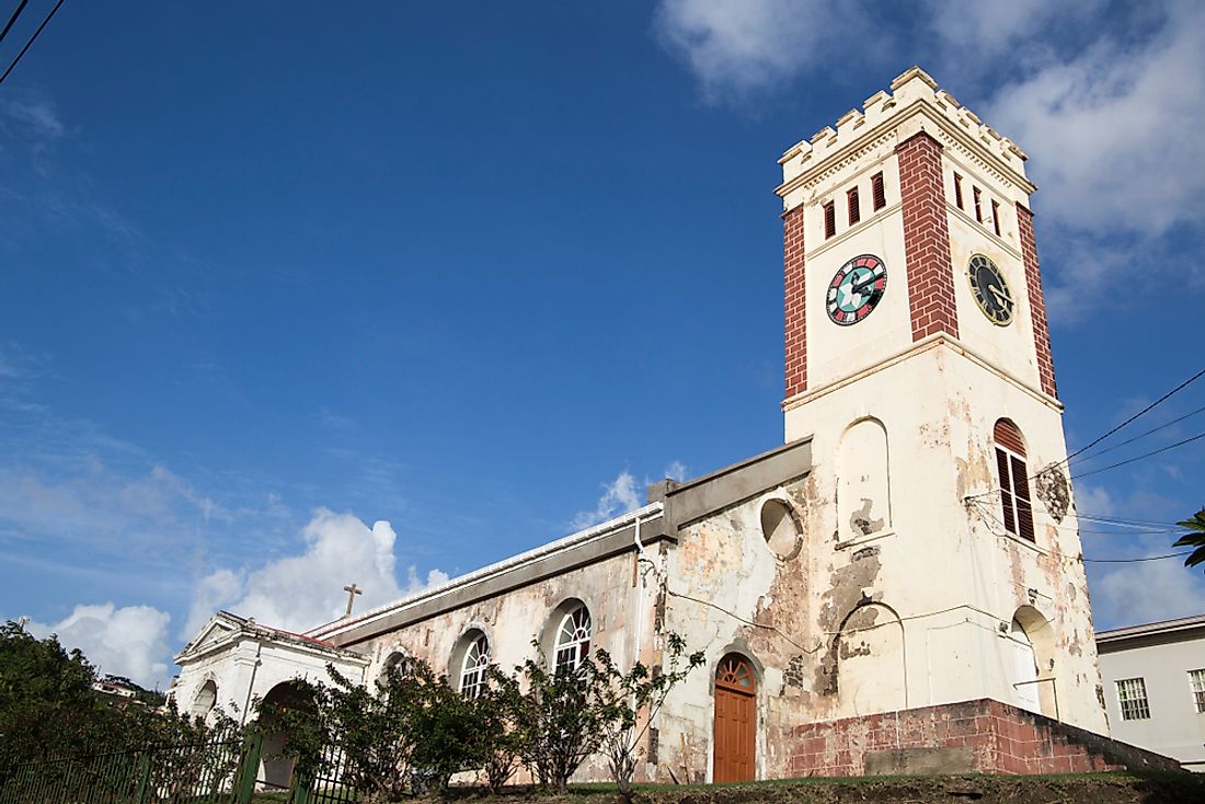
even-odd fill
[[[958,338],[950,224],[941,188],[941,143],[924,131],[895,147],[913,341],[933,333]]]

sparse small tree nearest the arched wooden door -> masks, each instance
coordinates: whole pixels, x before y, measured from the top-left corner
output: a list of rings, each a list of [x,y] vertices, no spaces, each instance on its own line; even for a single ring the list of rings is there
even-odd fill
[[[652,673],[640,662],[627,673],[621,673],[606,651],[600,650],[596,655],[602,752],[624,802],[631,800],[631,779],[636,773],[636,762],[643,755],[641,744],[653,718],[670,691],[704,662],[703,651],[696,651],[683,663],[686,641],[678,634],[666,634],[665,645],[669,662],[664,669],[654,668]],[[646,709],[641,721],[640,712]]]

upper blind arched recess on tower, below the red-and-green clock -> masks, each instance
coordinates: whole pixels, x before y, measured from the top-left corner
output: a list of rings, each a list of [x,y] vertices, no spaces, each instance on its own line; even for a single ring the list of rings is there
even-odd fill
[[[887,428],[877,418],[863,418],[841,436],[837,448],[837,534],[857,539],[892,527]]]

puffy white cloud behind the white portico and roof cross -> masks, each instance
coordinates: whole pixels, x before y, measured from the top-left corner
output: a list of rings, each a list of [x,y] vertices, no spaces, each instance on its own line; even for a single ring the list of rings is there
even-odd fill
[[[419,579],[411,567],[400,585],[394,557],[398,536],[388,522],[370,528],[352,513],[318,509],[300,535],[305,542],[300,554],[251,571],[219,569],[201,579],[193,594],[188,636],[219,608],[302,632],[343,615],[348,583],[364,591],[355,599],[355,610],[364,611],[448,580],[440,570]]]

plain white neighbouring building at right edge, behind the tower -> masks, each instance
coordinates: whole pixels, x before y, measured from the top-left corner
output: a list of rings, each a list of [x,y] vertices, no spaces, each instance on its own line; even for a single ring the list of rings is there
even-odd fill
[[[1097,634],[1115,739],[1205,773],[1205,615]]]

